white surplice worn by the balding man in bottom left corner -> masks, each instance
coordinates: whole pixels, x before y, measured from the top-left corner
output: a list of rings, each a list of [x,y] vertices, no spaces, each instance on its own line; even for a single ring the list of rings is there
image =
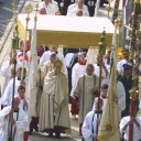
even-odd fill
[[[0,141],[8,141],[10,134],[11,123],[9,122],[9,118],[4,119],[4,116],[8,115],[10,110],[11,106],[8,106],[0,111]],[[23,141],[23,133],[26,131],[29,124],[28,116],[19,108],[18,112],[13,112],[13,119],[15,120],[15,124],[12,126],[13,141]]]

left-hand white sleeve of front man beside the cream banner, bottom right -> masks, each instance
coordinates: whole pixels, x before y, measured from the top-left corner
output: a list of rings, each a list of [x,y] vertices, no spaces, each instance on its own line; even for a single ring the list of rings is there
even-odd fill
[[[93,132],[91,132],[93,115],[94,115],[94,112],[89,112],[86,116],[84,123],[83,123],[82,133],[86,141],[89,141],[93,139],[93,137],[91,137],[93,135]]]

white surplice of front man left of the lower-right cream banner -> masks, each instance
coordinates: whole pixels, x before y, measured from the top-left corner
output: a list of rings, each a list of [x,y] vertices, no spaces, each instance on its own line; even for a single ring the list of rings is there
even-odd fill
[[[97,119],[101,118],[101,113],[99,113],[99,118],[97,118],[97,113],[95,111],[90,111],[86,115],[82,133],[85,139],[85,141],[93,141],[93,134],[96,134],[97,130]]]

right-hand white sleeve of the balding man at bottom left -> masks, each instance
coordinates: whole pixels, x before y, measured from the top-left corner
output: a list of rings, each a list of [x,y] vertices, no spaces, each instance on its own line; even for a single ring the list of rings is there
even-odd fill
[[[25,132],[29,127],[28,115],[25,112],[21,112],[21,115],[23,119],[21,121],[15,121],[17,131],[19,134],[22,134],[23,132]]]

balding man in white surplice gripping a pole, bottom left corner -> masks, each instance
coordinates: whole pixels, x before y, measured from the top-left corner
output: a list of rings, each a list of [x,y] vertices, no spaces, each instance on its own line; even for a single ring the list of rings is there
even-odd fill
[[[13,106],[0,111],[0,141],[23,141],[23,133],[29,126],[28,115],[19,108],[20,98],[13,99]]]

